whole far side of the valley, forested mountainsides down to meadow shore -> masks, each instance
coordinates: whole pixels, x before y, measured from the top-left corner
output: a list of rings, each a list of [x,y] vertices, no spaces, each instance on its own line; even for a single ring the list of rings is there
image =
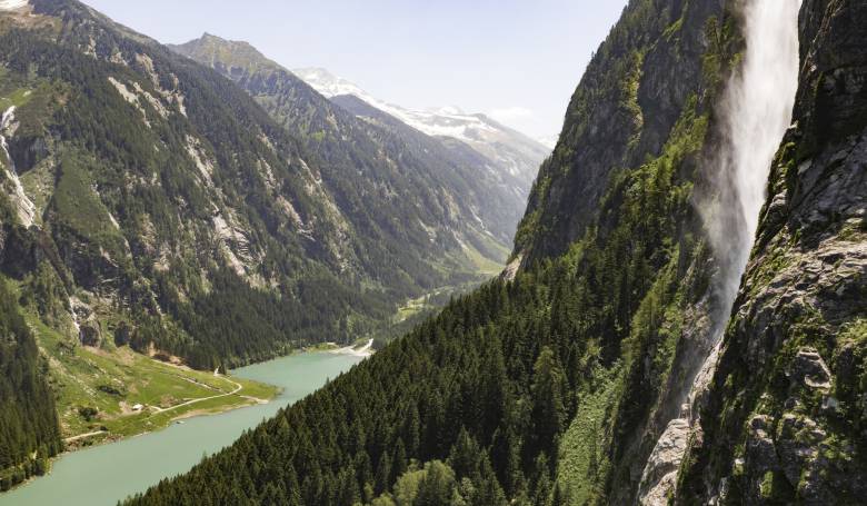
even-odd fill
[[[82,3],[0,7],[3,488],[60,438],[273,395],[195,369],[379,346],[502,268],[531,181],[471,147],[358,119],[249,46],[187,46],[242,88]]]

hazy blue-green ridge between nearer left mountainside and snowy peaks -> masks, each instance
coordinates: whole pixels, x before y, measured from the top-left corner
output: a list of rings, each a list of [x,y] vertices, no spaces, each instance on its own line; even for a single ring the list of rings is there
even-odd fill
[[[396,136],[352,117],[246,42],[207,36],[172,48],[210,65],[245,88],[309,152],[321,158],[320,165],[328,169],[323,172],[326,182],[338,195],[352,171],[369,171],[371,179],[390,188],[380,201],[368,201],[367,208],[416,206],[416,217],[407,210],[389,212],[383,208],[378,212],[401,217],[408,228],[418,222],[419,230],[435,234],[438,242],[450,240],[452,250],[470,245],[489,258],[502,260],[497,249],[511,240],[520,197],[488,186],[488,178],[480,179],[476,167],[452,157],[437,140],[421,135]],[[399,178],[409,185],[398,186]],[[347,198],[363,202],[363,192]],[[432,212],[418,208],[419,202],[439,212],[432,216],[439,222],[430,221],[428,215]],[[487,247],[487,235],[500,245]],[[426,255],[423,250],[418,252],[421,258]]]

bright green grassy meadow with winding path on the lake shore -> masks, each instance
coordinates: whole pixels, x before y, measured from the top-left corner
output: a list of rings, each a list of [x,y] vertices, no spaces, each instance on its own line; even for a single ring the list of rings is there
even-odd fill
[[[191,413],[219,413],[267,400],[277,388],[247,379],[191,370],[163,364],[127,347],[113,349],[71,345],[57,330],[28,315],[42,351],[50,363],[52,387],[64,437],[108,429],[100,437],[119,438],[156,430]],[[241,385],[241,390],[230,394]],[[209,397],[230,394],[223,397]],[[196,401],[172,408],[182,403]],[[146,406],[132,413],[132,406]],[[98,409],[90,421],[79,408]],[[159,411],[163,409],[163,411]]]

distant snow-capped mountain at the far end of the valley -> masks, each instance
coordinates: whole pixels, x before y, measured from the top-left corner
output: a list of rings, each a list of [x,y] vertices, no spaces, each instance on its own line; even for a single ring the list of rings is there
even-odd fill
[[[352,96],[423,133],[467,143],[490,160],[496,169],[520,180],[525,195],[536,178],[539,165],[551,151],[541,142],[481,113],[467,113],[454,106],[408,109],[373,97],[326,69],[295,69],[292,72],[329,99]]]

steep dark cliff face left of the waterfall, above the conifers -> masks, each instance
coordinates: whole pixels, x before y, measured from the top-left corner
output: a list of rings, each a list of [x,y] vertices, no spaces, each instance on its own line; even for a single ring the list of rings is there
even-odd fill
[[[690,97],[716,86],[702,73],[721,49],[721,2],[632,0],[594,56],[566,111],[518,229],[525,261],[561,255],[599,216],[611,175],[660,155]],[[715,33],[710,36],[710,33]]]

